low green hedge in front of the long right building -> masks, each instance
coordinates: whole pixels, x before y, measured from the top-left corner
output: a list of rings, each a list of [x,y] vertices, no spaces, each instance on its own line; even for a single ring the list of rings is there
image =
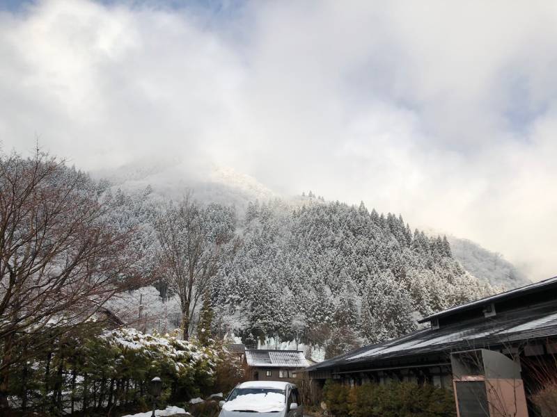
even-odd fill
[[[334,417],[456,416],[453,393],[430,384],[391,382],[350,388],[329,380],[323,398]]]

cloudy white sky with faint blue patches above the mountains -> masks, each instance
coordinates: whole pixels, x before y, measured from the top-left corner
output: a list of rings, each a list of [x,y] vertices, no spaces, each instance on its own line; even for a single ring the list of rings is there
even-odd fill
[[[179,158],[557,275],[557,2],[0,0],[0,143]]]

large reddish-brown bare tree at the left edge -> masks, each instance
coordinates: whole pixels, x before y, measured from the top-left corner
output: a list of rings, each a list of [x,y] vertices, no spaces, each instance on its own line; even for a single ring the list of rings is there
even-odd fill
[[[16,343],[32,350],[136,284],[131,230],[107,221],[93,181],[39,151],[0,155],[0,401]],[[41,337],[38,337],[38,336]],[[46,335],[46,336],[45,336]],[[52,335],[49,337],[49,335]]]

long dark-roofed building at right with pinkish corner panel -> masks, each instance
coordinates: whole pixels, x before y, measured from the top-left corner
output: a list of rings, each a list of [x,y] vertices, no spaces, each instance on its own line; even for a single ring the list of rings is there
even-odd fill
[[[441,311],[428,327],[306,368],[315,382],[407,381],[455,393],[460,417],[538,416],[529,397],[557,375],[557,277]],[[554,379],[555,380],[555,379]]]

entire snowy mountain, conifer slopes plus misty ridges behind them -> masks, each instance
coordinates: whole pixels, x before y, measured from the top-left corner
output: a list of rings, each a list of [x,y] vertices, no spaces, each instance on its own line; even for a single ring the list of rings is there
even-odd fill
[[[209,210],[207,229],[233,231],[239,245],[212,277],[210,300],[216,331],[244,343],[296,341],[320,346],[332,357],[405,334],[416,328],[416,317],[492,294],[499,289],[494,285],[525,281],[501,256],[470,241],[413,229],[398,213],[327,202],[311,192],[281,196],[230,168],[194,170],[168,160],[93,177],[108,180],[97,187],[110,197],[113,222],[140,231],[144,275],[156,268],[153,224],[168,199],[192,190]],[[146,329],[180,325],[168,282],[154,284],[156,290],[124,294],[111,308],[131,307],[137,317],[139,304],[149,306]]]

